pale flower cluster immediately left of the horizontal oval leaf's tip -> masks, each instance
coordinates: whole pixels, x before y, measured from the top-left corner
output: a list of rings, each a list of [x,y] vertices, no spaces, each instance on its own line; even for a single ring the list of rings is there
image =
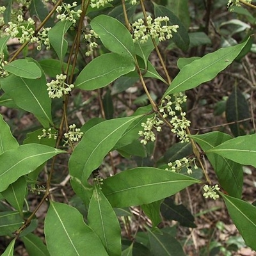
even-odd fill
[[[60,98],[63,94],[68,94],[74,88],[74,84],[67,84],[65,80],[67,79],[66,75],[60,74],[56,76],[56,80],[52,80],[50,83],[47,83],[47,91],[49,97],[54,99],[55,97]]]

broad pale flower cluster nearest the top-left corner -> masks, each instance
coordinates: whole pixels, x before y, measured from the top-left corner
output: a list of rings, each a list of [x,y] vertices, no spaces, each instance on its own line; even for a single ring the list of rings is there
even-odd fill
[[[20,44],[24,42],[36,42],[35,35],[35,21],[32,18],[24,20],[22,15],[17,16],[17,24],[12,21],[8,22],[9,27],[5,32],[13,38],[18,37]]]

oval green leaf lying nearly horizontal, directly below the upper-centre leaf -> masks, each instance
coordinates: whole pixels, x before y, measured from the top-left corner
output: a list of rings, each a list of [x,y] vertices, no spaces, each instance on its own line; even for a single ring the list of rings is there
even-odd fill
[[[135,64],[129,58],[116,53],[106,53],[84,67],[75,85],[83,90],[99,89],[133,70]]]

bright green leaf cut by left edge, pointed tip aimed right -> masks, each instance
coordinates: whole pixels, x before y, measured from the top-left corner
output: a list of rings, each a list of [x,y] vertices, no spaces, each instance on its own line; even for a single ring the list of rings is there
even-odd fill
[[[60,153],[65,151],[40,144],[26,144],[4,152],[0,155],[0,192]]]

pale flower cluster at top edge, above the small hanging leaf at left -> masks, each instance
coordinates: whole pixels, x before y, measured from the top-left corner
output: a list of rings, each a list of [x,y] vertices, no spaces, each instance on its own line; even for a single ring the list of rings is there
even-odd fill
[[[74,24],[76,23],[76,19],[81,16],[82,10],[71,10],[72,8],[77,6],[77,2],[73,2],[71,4],[62,3],[56,8],[56,12],[59,14],[57,15],[57,19],[60,19],[61,21],[64,20],[70,20]]]

